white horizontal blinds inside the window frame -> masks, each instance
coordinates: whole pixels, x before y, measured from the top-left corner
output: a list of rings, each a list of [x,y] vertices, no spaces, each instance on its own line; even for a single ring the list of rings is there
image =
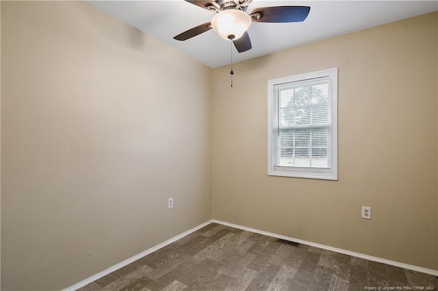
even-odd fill
[[[274,166],[331,167],[331,79],[274,86]]]

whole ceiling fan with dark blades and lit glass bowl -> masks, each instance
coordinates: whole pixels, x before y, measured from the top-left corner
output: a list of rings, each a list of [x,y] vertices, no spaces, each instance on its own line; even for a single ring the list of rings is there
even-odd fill
[[[256,8],[249,14],[253,0],[185,0],[198,7],[216,12],[211,22],[203,23],[175,36],[175,40],[188,40],[214,29],[224,40],[231,40],[239,53],[252,48],[248,28],[255,23],[302,22],[309,15],[309,6],[273,6]]]

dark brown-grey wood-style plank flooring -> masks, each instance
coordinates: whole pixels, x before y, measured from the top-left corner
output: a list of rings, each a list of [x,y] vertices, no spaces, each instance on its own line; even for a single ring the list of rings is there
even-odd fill
[[[438,279],[211,223],[79,290],[342,291],[374,287],[438,290]]]

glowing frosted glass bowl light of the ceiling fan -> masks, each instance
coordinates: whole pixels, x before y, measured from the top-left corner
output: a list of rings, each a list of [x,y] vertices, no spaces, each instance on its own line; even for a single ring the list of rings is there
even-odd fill
[[[211,26],[224,40],[237,40],[251,25],[251,18],[242,10],[224,10],[211,20]]]

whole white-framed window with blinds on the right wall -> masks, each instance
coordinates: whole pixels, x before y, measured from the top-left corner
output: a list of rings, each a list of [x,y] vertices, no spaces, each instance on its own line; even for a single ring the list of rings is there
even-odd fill
[[[337,180],[337,68],[268,81],[268,175]]]

